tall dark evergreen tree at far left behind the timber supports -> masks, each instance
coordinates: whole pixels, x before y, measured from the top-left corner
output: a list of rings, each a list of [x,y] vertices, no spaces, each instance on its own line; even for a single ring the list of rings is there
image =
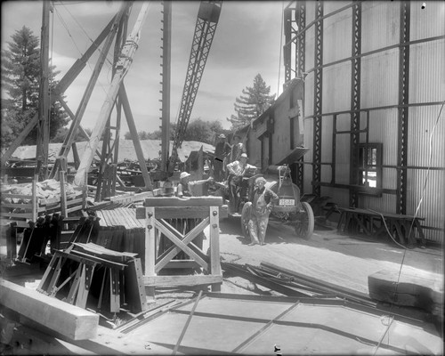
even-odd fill
[[[2,92],[8,98],[2,101],[2,147],[7,147],[28,122],[38,113],[40,85],[40,48],[38,37],[30,28],[23,26],[11,36],[8,49],[2,50]],[[57,85],[55,76],[59,72],[50,68],[49,87]],[[59,102],[51,106],[50,139],[59,129],[68,124],[68,115]],[[28,135],[24,144],[36,144],[37,129]],[[4,141],[3,141],[4,140]]]

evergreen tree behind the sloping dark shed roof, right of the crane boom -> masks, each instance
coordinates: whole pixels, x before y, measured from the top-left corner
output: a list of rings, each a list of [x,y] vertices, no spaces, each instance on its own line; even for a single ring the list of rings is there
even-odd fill
[[[231,122],[231,129],[236,130],[251,123],[256,117],[271,106],[275,99],[275,94],[271,95],[271,85],[267,86],[261,77],[257,74],[254,79],[254,86],[247,86],[243,89],[243,94],[236,98],[234,104],[237,115],[231,115],[227,118]]]

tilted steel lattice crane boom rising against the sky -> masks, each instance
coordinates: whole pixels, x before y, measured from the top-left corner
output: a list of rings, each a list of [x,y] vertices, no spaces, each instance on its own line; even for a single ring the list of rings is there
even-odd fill
[[[182,91],[181,108],[174,132],[173,149],[168,162],[168,172],[170,173],[174,171],[178,149],[182,145],[185,130],[189,124],[191,109],[193,109],[208,53],[214,39],[222,3],[222,1],[202,1],[199,5],[198,19],[191,44],[189,67]]]

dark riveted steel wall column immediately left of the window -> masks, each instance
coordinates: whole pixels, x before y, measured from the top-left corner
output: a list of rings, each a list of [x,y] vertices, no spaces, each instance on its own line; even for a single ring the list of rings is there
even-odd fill
[[[349,182],[359,184],[359,143],[360,143],[360,69],[361,69],[361,2],[352,6],[352,73],[351,73],[351,140]],[[349,190],[349,205],[359,206],[359,194]]]

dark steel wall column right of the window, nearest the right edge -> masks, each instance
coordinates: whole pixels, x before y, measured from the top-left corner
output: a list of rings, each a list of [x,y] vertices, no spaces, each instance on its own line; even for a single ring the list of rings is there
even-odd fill
[[[407,170],[408,164],[408,119],[409,119],[409,42],[410,2],[401,2],[401,35],[399,52],[399,130],[397,166],[397,214],[406,214],[407,210]]]

